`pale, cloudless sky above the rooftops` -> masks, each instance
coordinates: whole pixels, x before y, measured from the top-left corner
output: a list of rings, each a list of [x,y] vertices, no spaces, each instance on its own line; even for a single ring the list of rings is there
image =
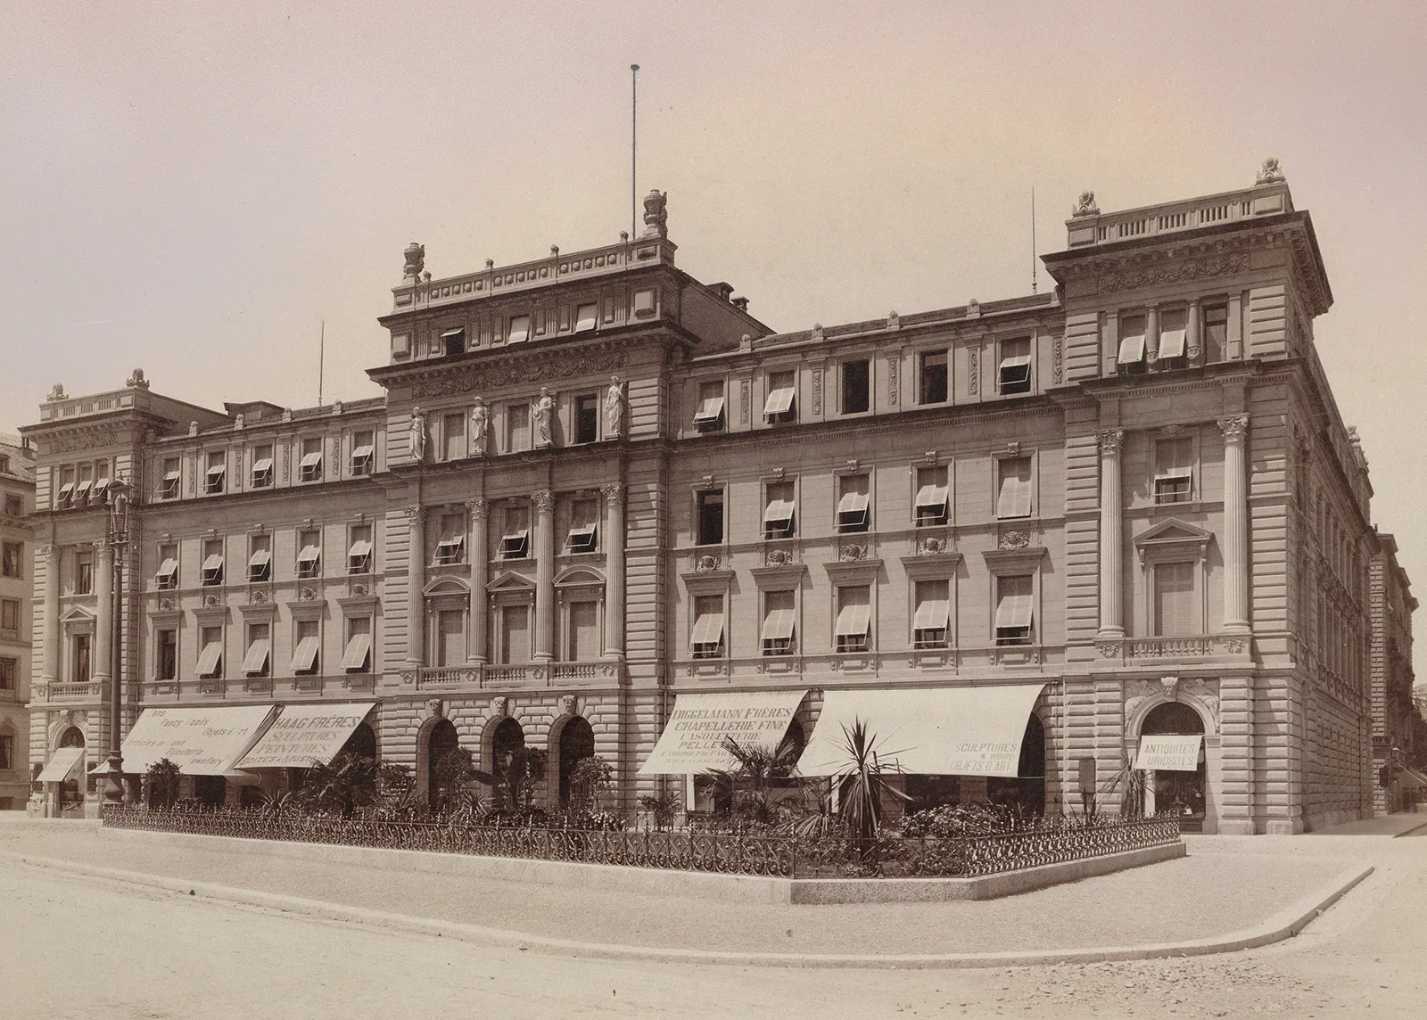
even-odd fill
[[[629,228],[639,63],[639,194],[775,330],[1029,292],[1032,188],[1049,253],[1085,188],[1129,208],[1277,155],[1374,519],[1427,591],[1420,1],[233,7],[0,0],[0,431],[136,365],[310,407],[323,320],[324,399],[377,395],[407,243],[442,277]]]

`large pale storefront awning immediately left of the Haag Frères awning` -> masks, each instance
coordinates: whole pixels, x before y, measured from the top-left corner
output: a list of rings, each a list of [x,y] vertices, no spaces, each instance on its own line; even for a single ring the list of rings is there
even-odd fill
[[[124,772],[140,775],[167,758],[186,776],[231,773],[273,712],[271,705],[144,709],[120,748]]]

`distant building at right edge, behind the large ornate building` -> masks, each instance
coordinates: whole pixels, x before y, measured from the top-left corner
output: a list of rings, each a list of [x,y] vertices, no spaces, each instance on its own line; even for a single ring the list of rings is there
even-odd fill
[[[1373,690],[1373,810],[1410,810],[1421,779],[1408,770],[1416,746],[1413,703],[1413,598],[1407,571],[1397,563],[1397,539],[1378,535],[1368,563]],[[1384,785],[1386,780],[1386,785]]]

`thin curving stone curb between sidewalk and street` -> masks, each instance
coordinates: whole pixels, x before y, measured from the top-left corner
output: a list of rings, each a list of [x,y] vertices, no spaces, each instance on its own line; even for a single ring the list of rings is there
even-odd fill
[[[123,872],[97,865],[83,865],[56,857],[40,857],[24,853],[0,853],[0,859],[30,867],[46,867],[94,879],[107,879],[131,886],[163,889],[178,894],[201,896],[208,900],[241,903],[244,906],[267,907],[284,913],[323,917],[327,920],[370,924],[372,927],[452,937],[462,942],[487,943],[517,950],[541,950],[559,956],[574,956],[599,960],[648,960],[659,963],[718,963],[742,967],[866,967],[879,970],[913,969],[962,969],[962,967],[1026,967],[1056,963],[1103,963],[1110,960],[1152,960],[1179,956],[1207,956],[1212,953],[1236,953],[1244,949],[1267,946],[1291,939],[1309,926],[1319,914],[1337,903],[1350,889],[1373,873],[1371,865],[1360,865],[1337,874],[1331,882],[1313,893],[1271,914],[1256,927],[1232,932],[1207,939],[1187,942],[1152,943],[1146,946],[1112,946],[1102,949],[1045,949],[1005,953],[945,953],[945,954],[856,954],[856,953],[735,953],[699,949],[656,949],[649,946],[621,946],[604,943],[574,942],[548,936],[524,934],[505,929],[465,924],[461,922],[412,917],[410,914],[370,910],[367,907],[344,906],[325,900],[308,900],[300,896],[263,893],[251,889],[234,889],[205,882],[187,882],[160,874]]]

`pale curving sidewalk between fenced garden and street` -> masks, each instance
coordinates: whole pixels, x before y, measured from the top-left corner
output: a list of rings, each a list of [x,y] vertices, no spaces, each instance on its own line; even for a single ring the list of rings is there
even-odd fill
[[[1281,853],[1290,842],[1296,852]],[[1167,952],[1167,944],[1241,933],[1287,916],[1290,907],[1304,907],[1306,899],[1319,896],[1323,902],[1351,880],[1350,870],[1361,874],[1370,849],[1390,845],[1380,837],[1361,839],[1354,840],[1354,852],[1340,850],[1340,842],[1333,840],[1321,845],[1323,852],[1313,852],[1304,850],[1304,842],[1259,837],[1237,849],[1222,845],[1200,853],[1202,840],[1196,839],[1190,856],[1179,860],[1002,900],[775,906],[599,889],[577,893],[497,880],[454,882],[357,865],[274,860],[261,845],[254,845],[251,853],[247,847],[156,846],[114,839],[93,823],[0,823],[0,855],[10,862],[51,859],[63,862],[66,870],[117,869],[154,882],[317,900],[372,923],[385,917],[397,926],[450,924],[454,932],[474,926],[492,937],[524,934],[631,953],[776,954],[779,960],[771,962],[782,963],[792,962],[789,957],[842,957],[853,963],[848,957],[982,959],[1017,953],[1072,959],[1103,947],[1152,946],[1164,952],[1140,954],[1177,954]],[[1414,843],[1403,840],[1396,847]],[[241,899],[223,890],[204,892]],[[308,910],[295,900],[247,902]],[[1311,917],[1313,909],[1307,904],[1306,916]],[[919,964],[909,960],[906,966]]]

